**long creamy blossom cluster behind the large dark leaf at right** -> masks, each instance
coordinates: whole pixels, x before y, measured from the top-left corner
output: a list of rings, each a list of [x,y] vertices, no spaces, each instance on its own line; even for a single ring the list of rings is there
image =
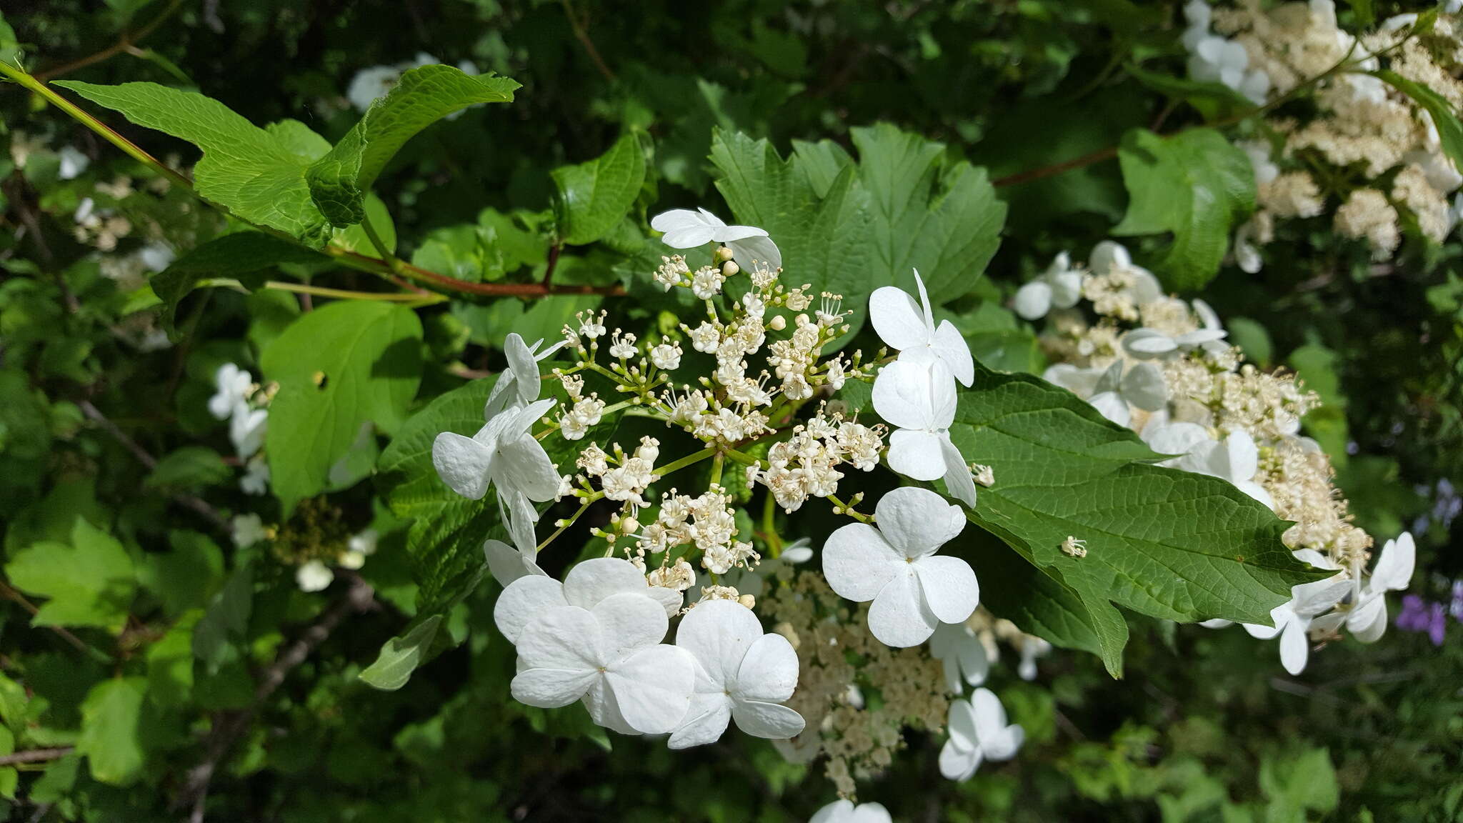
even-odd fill
[[[1293,521],[1286,546],[1298,559],[1336,571],[1296,586],[1292,600],[1271,614],[1274,627],[1246,627],[1255,637],[1282,637],[1287,671],[1304,669],[1309,640],[1334,638],[1343,627],[1364,643],[1381,637],[1385,593],[1406,589],[1412,577],[1412,536],[1388,540],[1372,556],[1372,539],[1352,523],[1328,458],[1301,435],[1317,395],[1293,375],[1245,363],[1208,305],[1163,294],[1122,246],[1105,240],[1091,259],[1093,269],[1081,272],[1087,305],[1049,316],[1042,343],[1056,363],[1043,376],[1173,455],[1165,466],[1227,480]],[[1086,554],[1086,540],[1072,536],[1064,551]]]

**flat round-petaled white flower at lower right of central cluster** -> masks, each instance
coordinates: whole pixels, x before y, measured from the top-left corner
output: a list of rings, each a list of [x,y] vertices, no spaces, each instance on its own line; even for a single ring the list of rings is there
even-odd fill
[[[966,526],[958,505],[906,486],[879,498],[878,527],[850,523],[824,545],[824,576],[840,597],[869,608],[869,631],[885,646],[929,640],[941,622],[963,622],[980,602],[970,564],[935,552]]]

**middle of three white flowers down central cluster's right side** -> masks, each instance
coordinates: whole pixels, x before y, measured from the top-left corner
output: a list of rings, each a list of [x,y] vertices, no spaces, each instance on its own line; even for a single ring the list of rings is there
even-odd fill
[[[895,426],[890,469],[916,480],[945,479],[951,496],[974,508],[976,482],[949,439],[955,422],[955,384],[941,360],[897,360],[873,381],[873,410]]]

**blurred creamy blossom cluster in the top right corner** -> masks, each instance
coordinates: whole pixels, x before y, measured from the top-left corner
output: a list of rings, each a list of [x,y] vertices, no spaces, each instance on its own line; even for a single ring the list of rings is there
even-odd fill
[[[1248,66],[1273,81],[1268,88],[1255,86],[1260,94],[1251,100],[1257,104],[1314,82],[1314,116],[1296,120],[1287,110],[1285,117],[1265,120],[1271,138],[1239,144],[1254,167],[1258,205],[1235,233],[1239,268],[1260,271],[1260,250],[1274,237],[1277,220],[1330,212],[1334,230],[1365,240],[1378,261],[1400,245],[1404,212],[1432,242],[1457,226],[1463,196],[1451,204],[1448,198],[1463,186],[1463,174],[1443,151],[1437,124],[1413,100],[1371,73],[1388,69],[1453,107],[1463,104],[1463,82],[1457,79],[1463,28],[1456,10],[1444,9],[1426,37],[1413,31],[1415,13],[1356,37],[1339,26],[1333,0],[1279,6],[1236,0],[1214,7],[1192,0],[1185,13],[1195,22],[1185,34],[1185,42],[1197,50],[1191,59],[1195,78],[1203,73],[1195,63],[1204,63],[1198,51],[1206,51],[1217,56],[1219,70],[1229,79]],[[1229,40],[1195,34],[1200,26],[1207,31],[1210,21]]]

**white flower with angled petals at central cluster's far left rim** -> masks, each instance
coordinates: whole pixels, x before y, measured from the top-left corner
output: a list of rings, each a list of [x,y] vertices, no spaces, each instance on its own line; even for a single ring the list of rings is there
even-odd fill
[[[506,409],[473,436],[442,432],[432,444],[432,464],[454,492],[483,499],[497,486],[497,505],[514,543],[534,543],[538,514],[530,501],[550,501],[559,492],[559,472],[528,429],[554,400],[544,398],[524,409]]]

